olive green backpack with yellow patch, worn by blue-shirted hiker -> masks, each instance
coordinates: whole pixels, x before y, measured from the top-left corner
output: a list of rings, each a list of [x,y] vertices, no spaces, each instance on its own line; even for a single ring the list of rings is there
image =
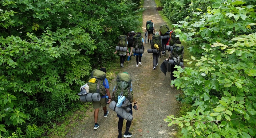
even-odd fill
[[[93,70],[91,78],[88,82],[89,93],[99,93],[101,96],[106,94],[103,82],[105,81],[106,73],[100,70]],[[106,82],[105,82],[106,84]]]

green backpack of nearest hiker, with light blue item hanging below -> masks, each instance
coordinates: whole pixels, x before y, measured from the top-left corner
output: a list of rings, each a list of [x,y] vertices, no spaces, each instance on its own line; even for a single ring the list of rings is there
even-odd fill
[[[118,73],[116,77],[116,85],[112,94],[112,100],[118,102],[118,96],[122,95],[132,103],[133,92],[131,89],[132,78],[126,73]]]

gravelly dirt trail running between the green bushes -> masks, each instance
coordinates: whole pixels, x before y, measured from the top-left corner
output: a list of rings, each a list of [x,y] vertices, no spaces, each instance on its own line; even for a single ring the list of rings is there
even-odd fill
[[[145,11],[143,12],[143,29],[146,21],[153,19],[156,31],[159,31],[160,25],[166,24],[156,10],[154,0],[144,1]],[[131,30],[132,31],[132,30]],[[144,36],[144,34],[143,34]],[[142,56],[142,66],[136,67],[136,57],[124,63],[124,68],[120,72],[126,71],[132,76],[133,91],[138,102],[139,110],[133,110],[133,121],[130,128],[133,138],[169,138],[174,137],[176,132],[174,126],[167,127],[168,123],[163,121],[169,114],[176,114],[179,110],[179,103],[175,95],[179,92],[170,87],[170,72],[165,76],[160,70],[160,65],[167,55],[161,55],[159,65],[153,70],[152,54],[147,53],[150,44],[145,44],[144,54]],[[108,77],[108,76],[107,76]],[[110,82],[110,90],[114,87],[114,81]],[[108,105],[107,105],[108,106]],[[118,136],[116,113],[109,109],[107,118],[103,117],[103,110],[100,108],[98,123],[100,127],[93,130],[94,117],[93,111],[87,111],[82,122],[76,123],[65,136],[67,138],[116,138]],[[123,131],[125,132],[125,123]],[[141,129],[142,132],[138,130]]]

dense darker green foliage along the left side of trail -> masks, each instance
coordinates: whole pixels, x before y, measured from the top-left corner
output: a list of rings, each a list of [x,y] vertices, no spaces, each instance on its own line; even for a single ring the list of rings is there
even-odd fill
[[[0,137],[37,137],[38,125],[73,108],[90,71],[115,59],[117,36],[138,30],[138,6],[127,0],[2,0]]]

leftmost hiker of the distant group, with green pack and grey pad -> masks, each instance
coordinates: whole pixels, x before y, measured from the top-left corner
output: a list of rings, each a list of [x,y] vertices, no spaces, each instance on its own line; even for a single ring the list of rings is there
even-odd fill
[[[121,37],[125,38],[125,40],[122,41]],[[117,44],[117,46],[128,47],[128,41],[127,41],[127,37],[125,35],[118,36],[118,39],[119,39],[119,43]],[[123,44],[121,44],[121,41]],[[114,52],[114,54],[116,54],[116,53],[117,53],[117,50],[116,50],[116,52]],[[124,67],[124,61],[126,59],[126,51],[119,51],[119,55],[120,55],[120,67]],[[129,56],[128,48],[127,48],[127,56]]]

